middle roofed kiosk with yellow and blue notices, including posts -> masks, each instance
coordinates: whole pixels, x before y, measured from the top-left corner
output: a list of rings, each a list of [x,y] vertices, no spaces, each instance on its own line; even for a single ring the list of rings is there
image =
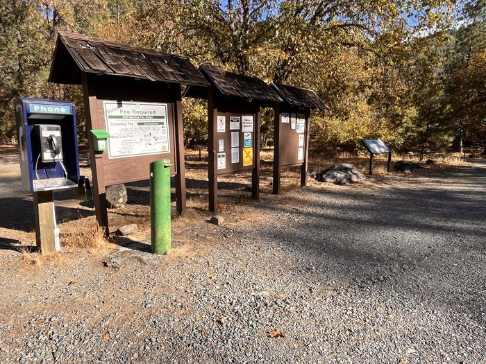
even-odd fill
[[[217,179],[251,171],[251,198],[260,197],[260,107],[282,102],[260,78],[199,67],[208,90],[190,86],[185,96],[208,99],[209,210],[217,211]]]

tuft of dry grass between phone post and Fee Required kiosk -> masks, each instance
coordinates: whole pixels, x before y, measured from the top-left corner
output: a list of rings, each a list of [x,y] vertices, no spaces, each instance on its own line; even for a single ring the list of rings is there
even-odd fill
[[[92,220],[78,220],[76,224],[65,226],[62,243],[69,248],[83,249],[89,252],[104,252],[112,247],[103,236],[103,229]]]

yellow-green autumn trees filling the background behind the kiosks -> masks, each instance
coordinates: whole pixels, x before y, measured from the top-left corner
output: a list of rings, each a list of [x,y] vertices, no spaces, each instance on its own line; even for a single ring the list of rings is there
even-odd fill
[[[485,0],[0,0],[0,139],[14,135],[16,96],[76,102],[48,85],[58,31],[189,56],[196,64],[315,89],[311,144],[359,150],[445,148],[485,137]],[[462,24],[459,26],[458,24]],[[185,144],[206,142],[206,102],[183,100]],[[262,141],[273,113],[262,110]]]

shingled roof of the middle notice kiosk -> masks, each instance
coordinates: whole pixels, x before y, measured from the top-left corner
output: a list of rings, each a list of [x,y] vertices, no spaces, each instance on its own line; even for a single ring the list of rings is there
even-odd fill
[[[260,78],[243,76],[210,65],[199,67],[199,71],[224,96],[251,99],[251,101],[262,101],[264,103],[282,102],[282,98],[278,96],[277,92]],[[206,92],[201,92],[200,87],[189,87],[185,96],[207,98]]]

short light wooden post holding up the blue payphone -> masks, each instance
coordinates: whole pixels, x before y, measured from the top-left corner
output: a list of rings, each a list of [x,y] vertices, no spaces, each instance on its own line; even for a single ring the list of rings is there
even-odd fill
[[[33,193],[35,211],[35,242],[42,254],[56,252],[56,228],[52,191]]]

